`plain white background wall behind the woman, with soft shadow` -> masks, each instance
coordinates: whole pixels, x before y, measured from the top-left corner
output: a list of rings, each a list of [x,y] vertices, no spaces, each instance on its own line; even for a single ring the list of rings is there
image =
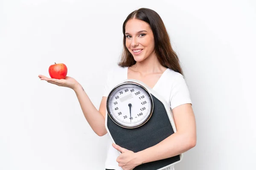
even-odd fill
[[[75,93],[38,79],[65,63],[96,108],[122,52],[122,23],[160,14],[180,58],[197,145],[175,170],[254,170],[254,0],[0,0],[0,170],[103,170],[107,136]]]

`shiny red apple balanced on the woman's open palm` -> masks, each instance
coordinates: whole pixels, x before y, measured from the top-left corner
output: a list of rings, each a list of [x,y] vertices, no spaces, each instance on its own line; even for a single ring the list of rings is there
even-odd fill
[[[67,76],[67,66],[63,63],[50,65],[49,74],[52,79],[65,79]]]

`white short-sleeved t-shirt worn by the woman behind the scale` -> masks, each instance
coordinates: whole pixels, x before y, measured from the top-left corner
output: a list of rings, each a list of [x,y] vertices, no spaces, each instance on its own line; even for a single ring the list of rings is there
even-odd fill
[[[103,96],[107,97],[116,85],[119,85],[126,79],[128,79],[128,67],[120,67],[119,65],[116,65],[116,67],[111,68],[108,72]],[[154,85],[153,90],[166,99],[166,102],[170,104],[171,109],[186,103],[192,104],[189,90],[182,74],[175,72],[170,68],[167,68],[166,71],[163,72],[160,79]],[[108,137],[108,153],[105,161],[105,168],[122,170],[116,161],[116,158],[119,156],[119,151],[113,148],[112,143],[111,138]],[[174,170],[174,166],[164,170]]]

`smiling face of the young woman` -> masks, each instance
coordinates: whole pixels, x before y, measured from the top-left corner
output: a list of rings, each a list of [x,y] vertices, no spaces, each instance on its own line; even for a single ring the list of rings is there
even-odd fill
[[[148,23],[131,19],[125,25],[125,45],[136,62],[154,55],[154,35]]]

